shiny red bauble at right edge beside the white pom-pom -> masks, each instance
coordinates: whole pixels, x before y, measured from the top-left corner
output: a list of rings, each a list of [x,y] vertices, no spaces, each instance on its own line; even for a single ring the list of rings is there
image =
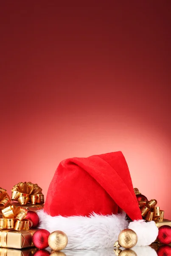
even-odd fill
[[[168,225],[160,227],[157,239],[161,244],[171,244],[171,227]]]

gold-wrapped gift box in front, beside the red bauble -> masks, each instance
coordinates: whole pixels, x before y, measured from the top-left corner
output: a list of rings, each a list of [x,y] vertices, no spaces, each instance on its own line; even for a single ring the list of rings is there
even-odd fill
[[[33,247],[32,236],[36,230],[0,230],[0,247],[26,248]]]

